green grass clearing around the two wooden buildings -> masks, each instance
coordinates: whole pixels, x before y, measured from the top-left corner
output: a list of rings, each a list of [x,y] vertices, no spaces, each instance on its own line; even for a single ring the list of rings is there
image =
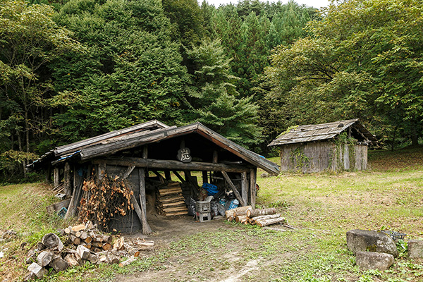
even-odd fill
[[[278,161],[277,159],[273,159]],[[278,207],[295,229],[223,223],[178,234],[135,264],[92,266],[46,281],[423,281],[423,260],[402,256],[388,271],[365,271],[347,250],[350,229],[390,229],[423,238],[423,149],[369,152],[365,172],[281,174],[258,178],[257,204]],[[0,242],[0,277],[22,276],[20,244],[35,243],[42,231],[67,226],[44,207],[51,195],[42,185],[0,188],[0,231],[18,238]],[[30,245],[30,244],[28,244]],[[13,281],[13,280],[11,280]]]

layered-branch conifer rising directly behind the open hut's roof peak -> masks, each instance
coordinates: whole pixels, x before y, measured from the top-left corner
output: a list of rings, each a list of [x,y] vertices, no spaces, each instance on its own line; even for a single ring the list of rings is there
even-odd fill
[[[193,47],[188,56],[195,66],[188,87],[191,118],[221,135],[245,146],[259,142],[261,128],[257,126],[258,106],[252,99],[238,99],[235,82],[230,74],[221,42],[203,41]]]

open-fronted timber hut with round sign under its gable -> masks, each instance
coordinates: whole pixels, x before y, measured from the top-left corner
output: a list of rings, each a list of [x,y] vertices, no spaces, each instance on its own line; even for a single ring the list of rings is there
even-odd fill
[[[56,147],[27,168],[43,169],[47,180],[53,174],[54,188],[63,188],[71,199],[66,217],[81,216],[82,204],[89,200],[87,186],[102,185],[106,178],[125,180],[133,191],[126,196],[135,212],[113,214],[107,227],[144,233],[151,214],[188,214],[187,203],[203,200],[207,192],[202,183],[216,189],[214,197],[233,197],[241,206],[255,206],[257,168],[279,173],[278,165],[201,123],[176,127],[156,120]]]

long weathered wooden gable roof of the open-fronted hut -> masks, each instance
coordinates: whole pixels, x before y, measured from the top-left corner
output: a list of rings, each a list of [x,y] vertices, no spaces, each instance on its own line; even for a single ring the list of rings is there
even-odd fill
[[[56,165],[69,158],[79,158],[81,161],[114,154],[126,149],[139,147],[153,142],[168,140],[181,135],[197,133],[219,147],[235,154],[254,166],[262,168],[269,173],[279,173],[277,164],[264,159],[264,157],[219,135],[201,123],[192,123],[180,127],[168,126],[159,121],[148,121],[123,130],[88,138],[69,145],[56,147],[42,157],[28,165],[28,168],[39,168],[46,161]]]

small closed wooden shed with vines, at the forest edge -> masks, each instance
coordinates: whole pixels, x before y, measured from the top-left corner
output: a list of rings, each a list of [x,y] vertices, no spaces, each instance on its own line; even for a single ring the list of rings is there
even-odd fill
[[[376,142],[376,137],[356,118],[295,126],[269,146],[281,149],[281,171],[311,173],[365,170],[367,147]]]

